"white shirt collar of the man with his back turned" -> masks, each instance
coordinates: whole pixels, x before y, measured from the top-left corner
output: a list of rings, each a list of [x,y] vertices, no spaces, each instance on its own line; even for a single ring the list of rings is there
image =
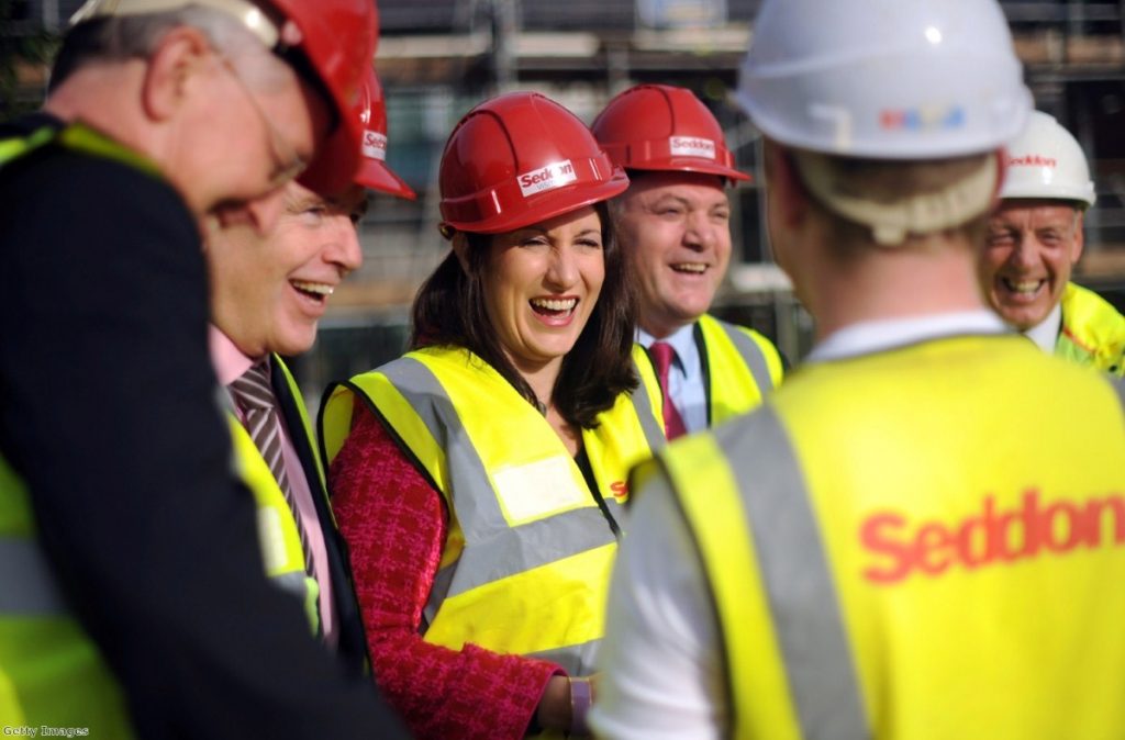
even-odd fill
[[[957,334],[1004,334],[1011,330],[987,309],[860,322],[829,334],[806,362],[840,360]]]

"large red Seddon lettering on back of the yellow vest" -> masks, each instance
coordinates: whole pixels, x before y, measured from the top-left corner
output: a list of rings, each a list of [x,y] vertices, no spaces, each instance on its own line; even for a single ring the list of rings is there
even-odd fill
[[[863,569],[863,577],[874,584],[899,583],[915,572],[937,577],[955,567],[973,570],[1041,553],[1120,545],[1125,496],[1044,506],[1040,491],[1030,488],[1018,508],[998,511],[996,497],[987,496],[979,514],[951,524],[927,520],[911,525],[902,513],[878,512],[861,523],[860,543],[874,556]]]

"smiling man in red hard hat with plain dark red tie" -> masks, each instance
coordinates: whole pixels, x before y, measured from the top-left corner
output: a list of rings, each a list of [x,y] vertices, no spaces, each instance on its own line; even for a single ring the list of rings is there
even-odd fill
[[[686,88],[630,88],[592,129],[629,172],[613,223],[636,278],[638,341],[660,379],[668,439],[754,408],[781,382],[781,354],[708,313],[730,264],[727,191],[750,175],[735,168],[719,121]]]

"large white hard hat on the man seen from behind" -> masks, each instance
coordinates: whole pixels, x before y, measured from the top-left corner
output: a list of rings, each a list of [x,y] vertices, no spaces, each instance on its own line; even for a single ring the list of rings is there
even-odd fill
[[[1032,108],[996,0],[766,0],[737,99],[782,144],[891,160],[999,147]]]

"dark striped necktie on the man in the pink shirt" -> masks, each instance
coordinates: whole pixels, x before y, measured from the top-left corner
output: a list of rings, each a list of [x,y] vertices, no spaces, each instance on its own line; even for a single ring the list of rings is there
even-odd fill
[[[289,504],[289,511],[292,512],[292,518],[297,523],[300,549],[305,556],[305,572],[315,580],[313,549],[308,544],[308,532],[305,530],[305,523],[292,497],[292,489],[289,487],[289,475],[285,468],[285,455],[281,453],[281,417],[278,415],[277,398],[270,386],[266,361],[251,367],[228,388],[245,417],[245,427],[250,433],[250,439],[253,440],[254,446],[262,454],[262,459],[266,460],[270,472],[273,473],[273,479],[277,480],[278,487],[285,495],[286,503]]]

